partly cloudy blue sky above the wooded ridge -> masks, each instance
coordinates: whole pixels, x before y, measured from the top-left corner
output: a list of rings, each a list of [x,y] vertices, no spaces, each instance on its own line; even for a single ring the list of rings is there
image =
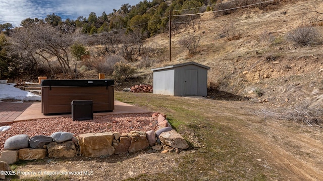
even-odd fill
[[[96,16],[119,10],[121,5],[136,5],[142,0],[0,0],[0,24],[11,23],[19,26],[26,18],[44,19],[55,13],[63,20],[76,20],[77,17],[88,17],[91,12]]]

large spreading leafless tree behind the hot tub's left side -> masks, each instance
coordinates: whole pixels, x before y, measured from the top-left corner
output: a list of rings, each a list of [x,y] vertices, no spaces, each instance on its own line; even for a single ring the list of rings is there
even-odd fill
[[[70,29],[43,24],[21,28],[15,32],[12,38],[12,49],[21,52],[21,57],[27,58],[35,65],[39,61],[46,62],[52,76],[54,72],[50,65],[52,65],[52,57],[56,57],[62,73],[71,76],[69,47],[72,43]]]

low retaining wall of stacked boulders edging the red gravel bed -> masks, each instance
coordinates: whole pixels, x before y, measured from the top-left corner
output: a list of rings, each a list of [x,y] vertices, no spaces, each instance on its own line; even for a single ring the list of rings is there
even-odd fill
[[[160,129],[148,132],[131,131],[130,133],[87,133],[73,135],[67,132],[56,132],[51,136],[16,135],[5,142],[5,151],[1,153],[0,162],[6,164],[19,160],[36,160],[49,158],[100,157],[113,154],[125,154],[146,149],[149,146],[157,151],[189,148],[186,140],[172,129],[166,115],[158,112],[152,114],[157,118]],[[5,170],[6,164],[3,165]],[[7,168],[6,168],[7,169]],[[4,175],[0,175],[2,179]]]

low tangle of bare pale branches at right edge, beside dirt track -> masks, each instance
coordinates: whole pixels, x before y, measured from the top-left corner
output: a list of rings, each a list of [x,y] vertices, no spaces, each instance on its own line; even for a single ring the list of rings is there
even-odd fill
[[[299,106],[286,109],[266,109],[262,108],[255,112],[259,116],[271,117],[273,119],[290,120],[293,122],[306,124],[309,126],[318,126],[323,123],[323,111],[320,108],[310,108],[308,106]]]

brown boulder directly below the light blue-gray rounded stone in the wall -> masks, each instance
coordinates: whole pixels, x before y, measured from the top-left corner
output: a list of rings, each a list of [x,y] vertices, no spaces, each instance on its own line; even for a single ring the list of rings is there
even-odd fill
[[[51,142],[47,145],[47,150],[50,158],[72,158],[78,154],[73,141]]]

